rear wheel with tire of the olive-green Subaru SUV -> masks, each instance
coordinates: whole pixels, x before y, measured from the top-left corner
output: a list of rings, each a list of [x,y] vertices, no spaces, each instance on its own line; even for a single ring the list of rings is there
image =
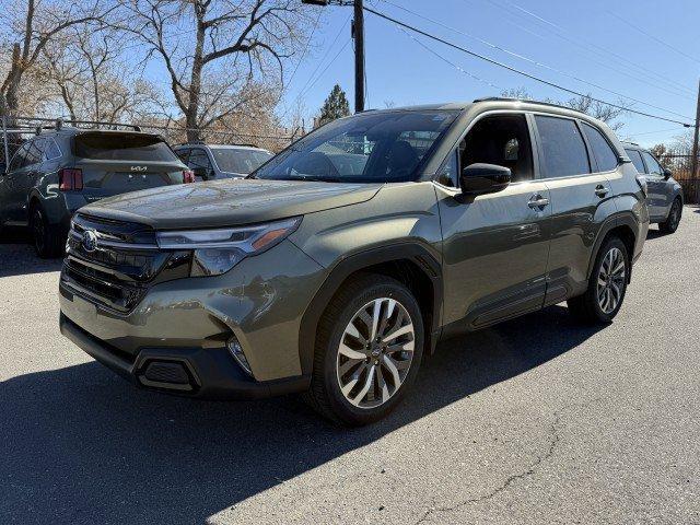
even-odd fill
[[[625,301],[629,275],[630,256],[625,243],[609,237],[598,250],[586,292],[567,301],[569,312],[582,323],[610,323]]]

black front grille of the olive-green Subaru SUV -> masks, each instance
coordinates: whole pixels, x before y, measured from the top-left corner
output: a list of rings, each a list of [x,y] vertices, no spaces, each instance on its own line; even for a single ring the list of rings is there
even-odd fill
[[[85,232],[96,238],[85,245]],[[81,213],[68,235],[61,282],[104,307],[131,311],[155,282],[188,275],[188,257],[161,252],[147,225]]]

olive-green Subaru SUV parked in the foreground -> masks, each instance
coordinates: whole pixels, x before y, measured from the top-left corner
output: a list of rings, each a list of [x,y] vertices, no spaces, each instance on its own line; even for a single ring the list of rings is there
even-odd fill
[[[61,331],[145,388],[304,393],[369,423],[439,340],[562,301],[609,323],[649,228],[637,177],[605,124],[559,106],[361,113],[247,179],[82,209]]]

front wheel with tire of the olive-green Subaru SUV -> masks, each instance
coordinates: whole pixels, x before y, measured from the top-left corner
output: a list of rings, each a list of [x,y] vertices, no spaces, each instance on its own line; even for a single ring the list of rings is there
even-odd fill
[[[402,335],[375,338],[368,348],[375,307],[378,339],[397,331]],[[306,401],[322,416],[348,427],[384,418],[415,382],[423,341],[420,307],[408,288],[386,276],[353,278],[336,293],[318,323]]]

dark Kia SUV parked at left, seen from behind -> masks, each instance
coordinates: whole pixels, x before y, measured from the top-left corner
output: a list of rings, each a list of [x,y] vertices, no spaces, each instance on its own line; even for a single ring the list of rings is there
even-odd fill
[[[192,182],[163,138],[137,130],[81,129],[57,122],[0,166],[0,229],[26,226],[39,257],[57,257],[70,219],[105,197]]]

